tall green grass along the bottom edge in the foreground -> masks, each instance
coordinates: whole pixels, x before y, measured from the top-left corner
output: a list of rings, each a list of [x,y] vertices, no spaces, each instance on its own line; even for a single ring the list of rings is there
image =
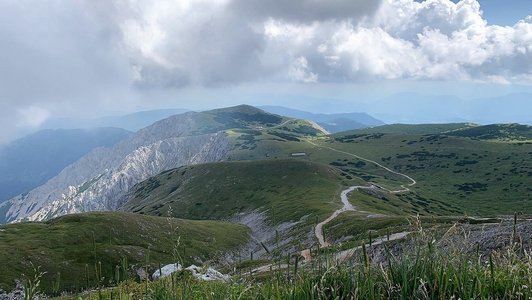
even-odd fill
[[[349,261],[321,257],[268,276],[232,283],[202,282],[186,272],[156,282],[122,283],[82,299],[532,299],[532,256],[512,243],[489,254],[461,249],[440,251],[431,237],[415,235],[417,245],[394,255],[393,243],[363,247]],[[378,252],[384,258],[376,258]]]

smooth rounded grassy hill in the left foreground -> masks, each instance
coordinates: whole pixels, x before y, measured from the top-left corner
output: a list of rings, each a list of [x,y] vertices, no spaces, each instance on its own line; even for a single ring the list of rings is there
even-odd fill
[[[47,272],[42,281],[45,291],[51,291],[59,273],[60,290],[76,290],[87,287],[87,282],[94,287],[116,280],[115,267],[124,257],[133,269],[150,265],[154,270],[175,261],[176,247],[185,263],[201,263],[235,250],[248,238],[248,228],[242,225],[128,213],[84,213],[2,225],[0,288],[11,290],[15,279],[31,275],[30,262]],[[99,262],[105,278],[100,283],[95,271]]]

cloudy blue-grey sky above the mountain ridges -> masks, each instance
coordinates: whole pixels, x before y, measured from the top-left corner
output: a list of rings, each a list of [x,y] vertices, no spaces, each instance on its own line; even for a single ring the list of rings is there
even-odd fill
[[[240,103],[436,122],[517,95],[504,120],[532,120],[530,0],[0,0],[0,43],[0,143]]]

